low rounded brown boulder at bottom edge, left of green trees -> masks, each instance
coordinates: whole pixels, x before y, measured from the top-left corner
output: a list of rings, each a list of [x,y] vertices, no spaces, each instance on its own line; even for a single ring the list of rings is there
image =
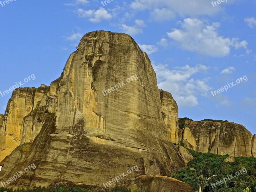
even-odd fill
[[[128,187],[147,192],[192,192],[190,185],[171,177],[141,175]]]

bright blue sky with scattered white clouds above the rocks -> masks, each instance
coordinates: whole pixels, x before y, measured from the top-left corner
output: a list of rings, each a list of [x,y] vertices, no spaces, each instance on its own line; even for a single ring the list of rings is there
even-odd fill
[[[148,53],[179,117],[233,121],[256,133],[256,0],[109,2],[2,0],[0,91],[32,74],[22,87],[50,85],[85,33],[123,32]],[[10,97],[0,95],[0,113]]]

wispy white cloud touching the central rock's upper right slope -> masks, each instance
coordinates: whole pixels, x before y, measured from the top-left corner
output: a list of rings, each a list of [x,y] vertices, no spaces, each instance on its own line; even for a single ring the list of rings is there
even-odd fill
[[[194,79],[193,75],[207,72],[210,67],[198,64],[168,69],[166,65],[157,64],[153,67],[156,72],[158,87],[172,93],[179,106],[193,107],[198,105],[197,96],[206,96],[211,89],[209,78]]]

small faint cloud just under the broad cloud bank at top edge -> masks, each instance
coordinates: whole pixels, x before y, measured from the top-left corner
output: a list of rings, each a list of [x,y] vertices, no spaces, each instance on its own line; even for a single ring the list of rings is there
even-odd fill
[[[156,8],[152,12],[150,12],[150,17],[155,21],[164,21],[175,18],[175,13],[165,8]]]

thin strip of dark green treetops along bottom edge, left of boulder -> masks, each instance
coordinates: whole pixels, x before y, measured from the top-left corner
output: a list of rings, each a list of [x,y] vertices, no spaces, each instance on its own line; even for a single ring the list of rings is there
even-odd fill
[[[7,189],[2,187],[0,188],[0,192],[95,192],[95,191],[83,189],[79,187],[67,188],[63,185],[60,185],[55,188],[34,187],[32,189],[15,189],[15,190],[13,190],[12,188]],[[116,186],[115,188],[111,190],[105,190],[104,192],[139,192],[139,191],[137,190],[131,191],[131,189],[127,189],[125,186]]]

